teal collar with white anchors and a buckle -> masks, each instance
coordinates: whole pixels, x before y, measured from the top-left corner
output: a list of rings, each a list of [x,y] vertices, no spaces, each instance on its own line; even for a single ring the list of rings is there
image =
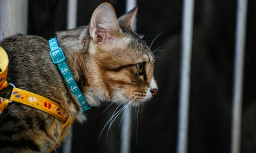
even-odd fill
[[[49,40],[49,46],[51,49],[50,55],[54,64],[56,64],[59,68],[62,77],[66,81],[67,85],[69,86],[70,91],[79,101],[80,107],[82,108],[82,112],[85,112],[91,107],[88,105],[86,99],[84,98],[83,94],[81,93],[80,89],[78,88],[76,81],[73,75],[70,72],[70,69],[66,63],[66,57],[59,47],[57,38],[51,38]]]

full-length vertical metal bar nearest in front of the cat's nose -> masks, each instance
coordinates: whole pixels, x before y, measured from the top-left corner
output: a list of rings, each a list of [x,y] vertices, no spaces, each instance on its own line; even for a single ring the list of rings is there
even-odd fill
[[[190,63],[193,36],[194,0],[183,1],[181,81],[179,93],[179,123],[177,153],[187,152]]]

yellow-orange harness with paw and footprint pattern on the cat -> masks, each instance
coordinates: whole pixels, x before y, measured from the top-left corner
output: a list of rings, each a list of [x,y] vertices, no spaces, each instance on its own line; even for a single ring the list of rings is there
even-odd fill
[[[8,64],[8,55],[5,50],[0,46],[0,68],[2,69],[2,71],[0,72],[0,90],[9,86],[6,81]],[[35,93],[15,88],[15,86],[12,90],[10,99],[0,97],[0,114],[3,113],[4,109],[7,108],[8,104],[12,101],[44,111],[61,121],[61,134],[59,137],[59,142],[57,142],[56,145],[47,152],[51,152],[60,144],[63,137],[65,136],[68,126],[71,126],[75,121],[74,117],[68,116],[66,111],[63,110],[60,105],[55,103],[54,101],[46,97],[37,95]]]

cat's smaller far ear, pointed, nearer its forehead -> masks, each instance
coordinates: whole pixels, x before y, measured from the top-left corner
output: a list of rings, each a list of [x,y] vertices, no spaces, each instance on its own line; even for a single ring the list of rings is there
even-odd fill
[[[118,23],[123,25],[125,28],[132,31],[136,31],[136,14],[138,7],[133,8],[131,11],[123,14],[118,18]]]

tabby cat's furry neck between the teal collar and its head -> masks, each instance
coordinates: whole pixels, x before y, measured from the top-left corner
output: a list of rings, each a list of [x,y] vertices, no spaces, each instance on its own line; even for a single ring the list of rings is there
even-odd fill
[[[62,48],[66,62],[73,74],[80,90],[90,106],[99,106],[100,101],[109,100],[106,97],[104,84],[101,82],[96,63],[90,54],[90,44],[93,41],[89,34],[89,27],[82,26],[73,30],[57,32],[57,40]],[[96,82],[95,82],[96,80]],[[95,94],[95,89],[100,89]]]

